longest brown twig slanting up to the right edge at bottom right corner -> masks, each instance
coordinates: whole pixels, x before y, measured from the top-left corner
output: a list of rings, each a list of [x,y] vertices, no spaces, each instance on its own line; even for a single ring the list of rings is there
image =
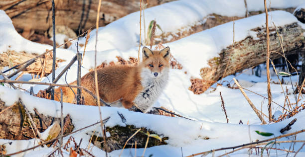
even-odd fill
[[[281,135],[281,136],[277,136],[277,137],[274,137],[274,138],[271,138],[271,139],[267,139],[267,140],[263,140],[263,141],[258,141],[258,142],[253,142],[253,143],[248,143],[248,144],[242,144],[242,145],[238,145],[238,146],[234,146],[234,147],[226,147],[226,148],[220,148],[220,149],[215,149],[214,151],[223,151],[223,150],[230,150],[230,149],[233,149],[235,151],[238,151],[240,149],[237,149],[237,148],[241,148],[241,147],[246,147],[246,146],[254,146],[256,144],[261,144],[261,143],[265,143],[265,142],[268,142],[268,141],[272,141],[272,140],[276,140],[276,139],[281,139],[283,137],[288,137],[288,136],[292,136],[292,135],[296,135],[296,134],[300,134],[300,133],[303,133],[305,132],[305,129],[303,130],[300,130],[300,131],[296,131],[296,132],[293,132],[293,133],[290,133],[290,134],[285,134],[285,135]],[[281,142],[281,141],[277,141],[278,142]],[[291,141],[290,141],[291,142]],[[303,141],[305,142],[305,141]],[[206,153],[210,153],[212,152],[213,150],[210,150],[210,151],[205,151],[205,152],[201,152],[201,153],[197,153],[197,154],[193,154],[193,155],[190,155],[190,156],[187,156],[187,157],[195,157],[195,156],[199,156],[199,155],[203,155],[203,154],[206,154]],[[234,151],[234,152],[235,152]]]

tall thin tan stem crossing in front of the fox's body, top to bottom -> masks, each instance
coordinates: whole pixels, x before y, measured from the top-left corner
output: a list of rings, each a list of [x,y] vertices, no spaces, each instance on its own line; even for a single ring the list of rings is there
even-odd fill
[[[97,38],[98,38],[98,33],[99,33],[99,19],[100,19],[100,9],[101,9],[101,2],[102,0],[99,0],[99,4],[98,4],[98,10],[97,10],[97,16],[96,16],[96,38],[95,38],[95,55],[94,55],[94,80],[95,80],[95,87],[96,87],[96,96],[97,99],[100,99],[100,94],[99,94],[99,86],[98,86],[98,78],[97,78],[97,70],[96,70],[96,53],[97,53]],[[107,141],[106,141],[106,134],[104,132],[104,123],[102,120],[102,112],[101,112],[101,103],[100,101],[98,101],[98,106],[99,106],[99,113],[100,113],[100,119],[101,119],[101,129],[103,132],[103,140],[104,140],[104,148],[105,148],[105,152],[106,152],[106,157],[108,157],[107,155]]]

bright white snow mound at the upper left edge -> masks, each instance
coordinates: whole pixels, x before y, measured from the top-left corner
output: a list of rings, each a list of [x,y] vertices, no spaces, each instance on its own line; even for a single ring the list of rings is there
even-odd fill
[[[14,50],[16,52],[25,51],[27,53],[42,54],[46,49],[51,50],[53,47],[24,39],[15,30],[11,19],[3,10],[0,10],[0,53]],[[74,54],[71,50],[56,49],[56,57],[61,59],[72,58]]]

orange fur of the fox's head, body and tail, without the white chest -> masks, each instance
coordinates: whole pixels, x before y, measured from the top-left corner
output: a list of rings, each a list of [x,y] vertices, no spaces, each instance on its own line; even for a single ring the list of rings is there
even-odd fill
[[[163,68],[169,68],[169,56],[169,48],[165,48],[159,52],[151,51],[144,47],[143,62],[138,66],[121,65],[97,69],[98,87],[101,99],[111,103],[122,98],[122,105],[125,108],[131,108],[134,105],[133,101],[136,96],[144,89],[141,84],[142,69],[148,68],[152,73],[160,73]],[[76,81],[71,84],[76,84]],[[96,94],[94,71],[89,72],[81,78],[81,85],[90,90],[93,94]],[[57,95],[60,95],[60,89],[63,90],[64,102],[76,102],[74,95],[74,93],[76,94],[76,89],[73,89],[73,93],[69,87],[59,87],[55,89]],[[86,105],[97,105],[96,99],[89,93],[82,91],[82,95]],[[55,100],[59,101],[58,97],[55,96]]]

